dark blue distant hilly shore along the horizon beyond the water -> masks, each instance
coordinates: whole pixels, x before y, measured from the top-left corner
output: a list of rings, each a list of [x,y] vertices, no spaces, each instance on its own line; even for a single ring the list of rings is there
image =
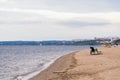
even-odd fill
[[[83,40],[83,41],[1,41],[0,45],[98,45],[95,40]]]

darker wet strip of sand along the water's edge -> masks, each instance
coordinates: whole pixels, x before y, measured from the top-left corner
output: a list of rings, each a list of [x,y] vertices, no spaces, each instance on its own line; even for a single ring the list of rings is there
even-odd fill
[[[78,52],[78,51],[76,51]],[[69,66],[73,67],[74,66],[74,54],[76,52],[72,52],[66,55],[63,55],[59,58],[57,58],[50,66],[48,66],[46,69],[41,71],[38,75],[32,77],[29,80],[48,80],[49,78],[53,77],[51,75],[56,75],[59,73],[64,73],[64,70],[69,68]],[[56,64],[57,63],[57,64]],[[65,64],[65,65],[64,65]],[[67,64],[67,65],[66,65]],[[50,74],[50,75],[49,75]],[[46,77],[47,75],[47,77]],[[57,76],[55,76],[57,77]]]

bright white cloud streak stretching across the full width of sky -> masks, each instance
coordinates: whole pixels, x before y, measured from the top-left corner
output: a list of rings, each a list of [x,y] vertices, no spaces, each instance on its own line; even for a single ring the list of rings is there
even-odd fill
[[[93,12],[93,13],[70,13],[70,12],[57,12],[52,10],[34,10],[34,9],[20,9],[20,8],[0,8],[0,11],[7,12],[9,15],[9,12],[14,13],[24,13],[24,14],[31,14],[31,15],[42,15],[46,18],[51,19],[73,19],[73,18],[94,18],[94,19],[103,19],[108,20],[111,22],[119,22],[120,18],[120,12]]]

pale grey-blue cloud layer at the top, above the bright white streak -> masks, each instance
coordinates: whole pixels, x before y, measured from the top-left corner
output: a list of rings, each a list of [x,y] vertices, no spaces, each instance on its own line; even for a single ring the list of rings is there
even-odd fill
[[[120,11],[120,0],[11,0],[7,7],[49,9],[62,12]],[[6,7],[0,4],[0,7]]]

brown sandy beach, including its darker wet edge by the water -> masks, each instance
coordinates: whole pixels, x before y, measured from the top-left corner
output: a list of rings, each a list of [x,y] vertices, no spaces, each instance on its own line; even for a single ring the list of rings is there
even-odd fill
[[[102,54],[84,50],[62,56],[30,80],[120,80],[120,46],[99,50]]]

